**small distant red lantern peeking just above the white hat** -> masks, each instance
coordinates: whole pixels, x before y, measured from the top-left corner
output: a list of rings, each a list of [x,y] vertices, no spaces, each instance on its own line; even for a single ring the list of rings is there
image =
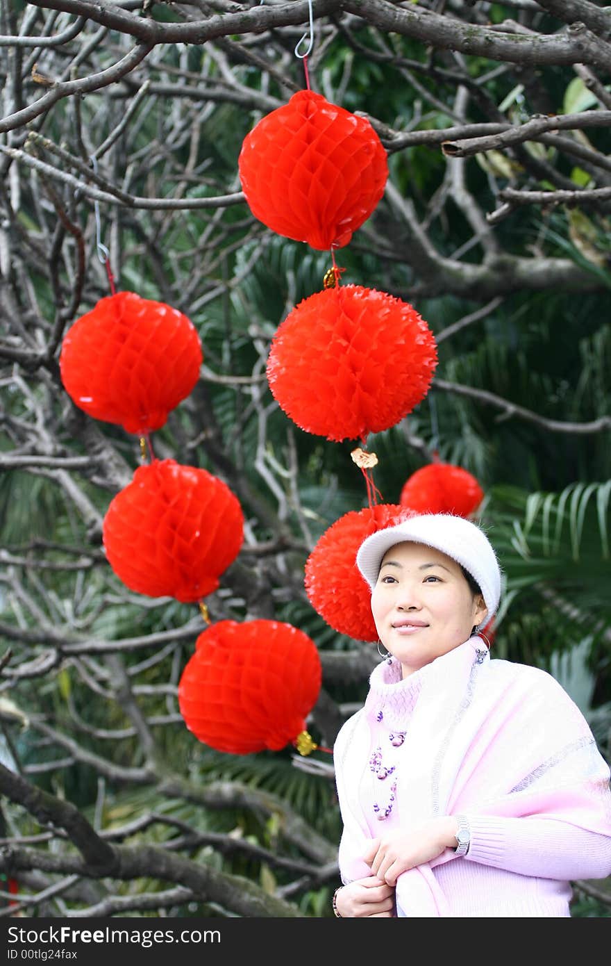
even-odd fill
[[[430,463],[405,481],[401,503],[415,513],[454,513],[468,517],[484,499],[475,476],[450,463]]]

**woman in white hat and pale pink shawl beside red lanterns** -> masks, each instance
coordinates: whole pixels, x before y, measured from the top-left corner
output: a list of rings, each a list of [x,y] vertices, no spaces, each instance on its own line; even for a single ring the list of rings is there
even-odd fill
[[[388,651],[334,747],[340,917],[569,916],[611,874],[609,768],[545,671],[493,660],[501,572],[447,514],[378,530],[357,566]]]

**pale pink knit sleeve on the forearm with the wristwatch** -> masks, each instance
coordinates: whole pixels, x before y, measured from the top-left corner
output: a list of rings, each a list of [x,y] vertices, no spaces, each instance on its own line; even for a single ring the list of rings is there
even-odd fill
[[[468,862],[544,879],[603,879],[611,875],[611,836],[541,815],[466,815]]]

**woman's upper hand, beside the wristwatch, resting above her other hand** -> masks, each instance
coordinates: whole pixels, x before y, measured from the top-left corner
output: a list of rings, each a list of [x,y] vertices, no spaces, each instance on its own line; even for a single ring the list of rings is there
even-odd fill
[[[380,838],[374,838],[363,859],[379,879],[395,886],[402,872],[422,866],[451,846],[456,846],[456,818],[444,815],[431,818],[409,832],[398,829]]]

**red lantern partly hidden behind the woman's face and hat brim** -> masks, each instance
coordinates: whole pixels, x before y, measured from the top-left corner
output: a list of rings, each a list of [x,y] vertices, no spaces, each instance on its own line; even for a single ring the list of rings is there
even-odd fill
[[[305,588],[314,610],[339,634],[377,640],[372,592],[356,566],[356,552],[376,530],[409,516],[401,506],[378,503],[345,514],[319,538],[306,560]]]

